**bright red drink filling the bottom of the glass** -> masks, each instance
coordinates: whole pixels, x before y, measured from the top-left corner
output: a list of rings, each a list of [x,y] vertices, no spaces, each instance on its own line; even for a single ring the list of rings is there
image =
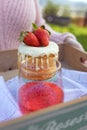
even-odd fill
[[[54,83],[31,82],[19,90],[19,106],[29,113],[63,102],[63,91]]]

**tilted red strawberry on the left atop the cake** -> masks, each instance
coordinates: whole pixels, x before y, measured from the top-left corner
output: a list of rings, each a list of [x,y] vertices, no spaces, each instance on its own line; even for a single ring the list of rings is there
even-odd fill
[[[20,35],[20,41],[23,41],[28,46],[40,46],[37,37],[32,32],[22,32]]]

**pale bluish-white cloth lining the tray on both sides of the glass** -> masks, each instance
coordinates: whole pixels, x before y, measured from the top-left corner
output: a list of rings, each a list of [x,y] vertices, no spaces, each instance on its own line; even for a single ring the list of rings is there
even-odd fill
[[[87,73],[75,70],[62,69],[64,102],[68,102],[87,95]],[[22,85],[22,84],[21,84]],[[22,114],[18,107],[18,77],[7,82],[0,76],[0,121],[14,119]],[[4,99],[4,100],[3,100]]]

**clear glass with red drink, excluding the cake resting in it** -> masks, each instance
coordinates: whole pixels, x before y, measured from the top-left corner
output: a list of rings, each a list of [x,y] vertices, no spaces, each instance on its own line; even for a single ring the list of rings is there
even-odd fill
[[[18,103],[23,114],[63,103],[64,92],[59,61],[56,63],[56,72],[51,78],[27,80],[20,77],[20,81],[23,85],[18,90]]]

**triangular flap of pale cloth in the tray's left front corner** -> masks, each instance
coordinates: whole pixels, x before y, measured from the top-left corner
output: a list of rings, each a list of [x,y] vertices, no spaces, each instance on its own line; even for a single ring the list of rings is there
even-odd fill
[[[2,76],[0,76],[0,104],[0,121],[21,116],[19,107],[9,92]]]

